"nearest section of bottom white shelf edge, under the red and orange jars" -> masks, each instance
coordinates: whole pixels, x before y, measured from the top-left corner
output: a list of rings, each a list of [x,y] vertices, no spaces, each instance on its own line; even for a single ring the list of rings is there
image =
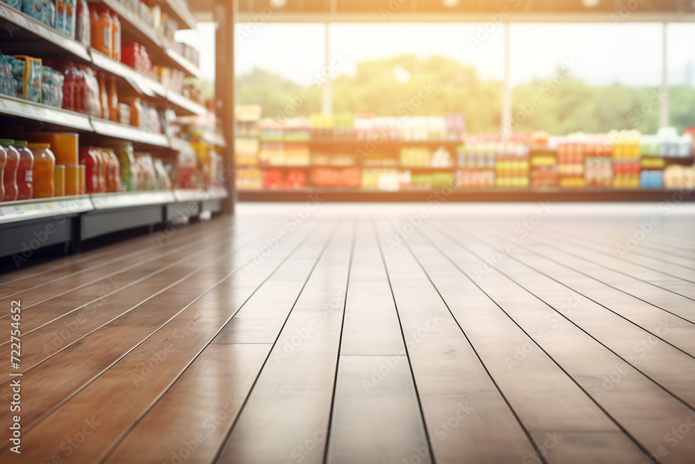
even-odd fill
[[[0,224],[31,221],[51,216],[59,220],[70,214],[92,210],[94,210],[94,206],[86,195],[0,202]]]

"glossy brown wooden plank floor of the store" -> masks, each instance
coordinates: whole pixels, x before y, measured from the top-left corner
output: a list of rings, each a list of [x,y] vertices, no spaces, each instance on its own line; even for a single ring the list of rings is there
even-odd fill
[[[695,463],[694,232],[677,203],[240,205],[6,273],[0,462]]]

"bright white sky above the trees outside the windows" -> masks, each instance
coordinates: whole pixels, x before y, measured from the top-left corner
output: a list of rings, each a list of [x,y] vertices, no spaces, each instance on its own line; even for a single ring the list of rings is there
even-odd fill
[[[571,63],[576,77],[594,85],[661,83],[662,24],[512,24],[512,85],[552,77]],[[179,33],[201,51],[206,79],[214,77],[214,25]],[[261,67],[309,86],[325,65],[324,24],[236,24],[236,74]],[[504,26],[484,24],[330,24],[329,52],[335,74],[353,74],[356,63],[414,53],[441,55],[473,65],[483,79],[504,76]],[[667,28],[669,83],[695,84],[695,24]]]

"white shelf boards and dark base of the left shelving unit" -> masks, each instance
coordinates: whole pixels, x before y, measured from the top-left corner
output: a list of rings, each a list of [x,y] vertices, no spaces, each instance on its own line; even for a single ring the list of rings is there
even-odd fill
[[[181,70],[198,77],[200,70],[184,58],[170,40],[146,24],[118,0],[93,0],[119,15],[122,35],[145,45],[155,65]],[[90,0],[90,3],[93,3]],[[194,29],[197,21],[181,0],[165,0],[161,8],[183,29]],[[0,45],[6,54],[27,54],[55,61],[73,61],[92,65],[117,78],[119,93],[140,95],[155,105],[174,109],[179,116],[206,116],[203,104],[175,93],[156,79],[116,61],[96,49],[68,38],[37,20],[0,3]],[[132,91],[131,91],[132,89]],[[190,143],[130,125],[91,117],[6,95],[0,95],[0,118],[5,122],[51,131],[71,131],[89,143],[101,140],[130,141],[147,150],[193,152]],[[217,147],[225,147],[224,137],[206,131],[204,138]],[[158,151],[162,153],[161,151]],[[133,227],[157,227],[173,221],[187,222],[201,211],[218,212],[229,200],[227,189],[131,191],[99,193],[74,197],[0,202],[0,256],[33,253],[38,248],[65,244],[65,250],[79,250],[81,242],[104,234]],[[37,238],[37,237],[40,237]],[[19,253],[19,255],[17,255]]]

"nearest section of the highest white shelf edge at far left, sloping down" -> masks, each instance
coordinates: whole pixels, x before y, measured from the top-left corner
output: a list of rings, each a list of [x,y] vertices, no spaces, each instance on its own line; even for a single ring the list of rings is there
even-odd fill
[[[19,28],[20,31],[17,31],[17,28]],[[23,40],[21,39],[23,37],[17,37],[17,35],[19,33],[25,33],[27,34],[27,38],[42,38],[47,40],[56,49],[67,51],[77,58],[80,58],[82,61],[91,61],[87,47],[83,44],[51,29],[49,26],[45,26],[32,17],[4,3],[0,3],[0,29],[6,31],[10,36],[10,44],[8,44],[10,47],[3,47],[6,53],[14,52],[12,49],[13,45],[15,45],[15,47],[22,45]],[[15,44],[12,42],[15,42]]]

